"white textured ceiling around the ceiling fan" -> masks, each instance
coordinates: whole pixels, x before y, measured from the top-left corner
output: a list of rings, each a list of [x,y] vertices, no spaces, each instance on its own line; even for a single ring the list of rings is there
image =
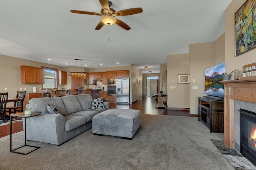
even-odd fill
[[[141,7],[143,12],[116,17],[129,31],[116,24],[96,31],[100,16],[70,10],[100,13],[98,0],[1,0],[0,54],[58,66],[75,66],[74,59],[83,59],[87,68],[132,63],[142,73],[157,73],[167,55],[189,53],[190,44],[220,37],[231,1],[112,0],[116,11]]]

